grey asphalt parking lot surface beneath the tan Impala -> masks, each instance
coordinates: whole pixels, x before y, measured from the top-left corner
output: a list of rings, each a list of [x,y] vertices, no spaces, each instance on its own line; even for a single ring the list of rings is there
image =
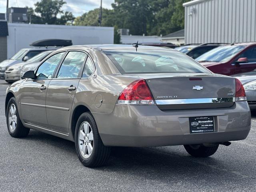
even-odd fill
[[[0,80],[0,191],[256,191],[256,113],[246,140],[193,158],[183,146],[113,148],[108,166],[86,168],[74,143],[31,130],[12,138]]]

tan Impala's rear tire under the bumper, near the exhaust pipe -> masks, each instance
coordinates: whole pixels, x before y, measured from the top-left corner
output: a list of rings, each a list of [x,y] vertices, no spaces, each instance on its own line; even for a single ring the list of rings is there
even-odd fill
[[[206,147],[203,145],[184,145],[184,148],[186,149],[186,151],[191,156],[194,156],[194,157],[209,157],[217,151],[218,147],[219,147],[218,144],[211,147]]]

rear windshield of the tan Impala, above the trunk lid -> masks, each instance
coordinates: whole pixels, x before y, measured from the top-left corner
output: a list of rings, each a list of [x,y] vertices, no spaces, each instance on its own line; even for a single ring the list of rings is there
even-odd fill
[[[174,50],[105,50],[122,74],[210,73],[190,57]]]

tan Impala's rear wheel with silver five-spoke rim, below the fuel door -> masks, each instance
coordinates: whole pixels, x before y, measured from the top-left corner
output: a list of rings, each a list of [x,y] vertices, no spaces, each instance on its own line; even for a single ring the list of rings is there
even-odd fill
[[[83,113],[76,123],[76,153],[86,167],[98,167],[107,163],[110,147],[104,146],[96,122],[90,112]]]

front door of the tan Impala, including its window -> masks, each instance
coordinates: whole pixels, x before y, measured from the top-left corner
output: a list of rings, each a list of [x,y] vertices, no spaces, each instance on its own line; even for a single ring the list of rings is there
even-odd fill
[[[46,117],[46,93],[58,63],[64,52],[44,61],[36,72],[36,79],[25,80],[20,95],[22,118],[25,123],[48,128]]]

